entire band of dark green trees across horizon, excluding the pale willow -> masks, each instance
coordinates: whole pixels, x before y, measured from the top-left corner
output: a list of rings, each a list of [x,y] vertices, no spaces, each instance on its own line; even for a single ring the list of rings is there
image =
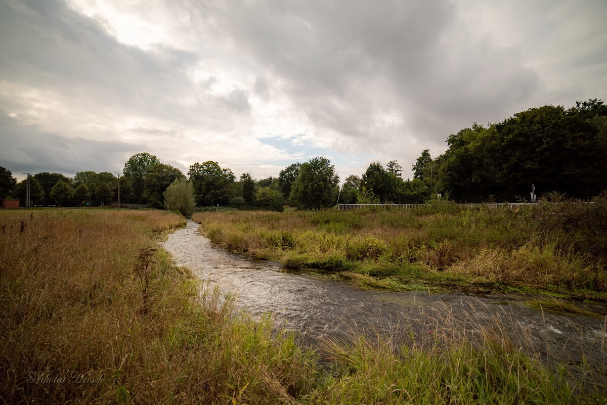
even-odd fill
[[[30,178],[32,205],[107,206],[117,201],[164,208],[164,192],[188,179],[197,206],[232,206],[282,210],[322,209],[343,204],[529,200],[538,196],[588,199],[607,190],[607,106],[599,99],[575,107],[544,105],[487,126],[473,124],[450,135],[447,150],[432,158],[422,151],[413,178],[402,178],[397,160],[371,163],[362,176],[350,175],[342,187],[331,161],[324,157],[296,162],[278,177],[254,180],[217,162],[196,162],[187,176],[147,152],[131,156],[118,178],[114,173],[37,173]],[[0,168],[0,198],[25,205],[26,180],[16,182]]]

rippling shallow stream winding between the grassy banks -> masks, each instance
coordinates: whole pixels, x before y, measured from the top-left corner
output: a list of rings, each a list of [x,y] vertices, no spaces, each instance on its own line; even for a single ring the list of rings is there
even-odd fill
[[[253,315],[270,312],[278,327],[318,343],[367,335],[432,336],[497,330],[515,345],[544,358],[566,355],[578,363],[607,364],[605,317],[550,313],[525,304],[518,295],[430,294],[360,290],[342,281],[288,270],[279,263],[249,260],[214,247],[188,221],[163,243],[180,266],[223,292],[236,293],[236,305]],[[604,307],[593,310],[605,312]]]

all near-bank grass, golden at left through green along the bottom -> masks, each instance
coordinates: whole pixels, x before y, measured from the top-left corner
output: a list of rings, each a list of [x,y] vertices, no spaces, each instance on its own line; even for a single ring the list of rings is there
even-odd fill
[[[605,403],[604,385],[586,390],[499,334],[331,341],[321,363],[174,266],[157,244],[183,226],[172,213],[21,210],[0,221],[4,403]],[[141,249],[158,249],[144,258],[145,311]]]

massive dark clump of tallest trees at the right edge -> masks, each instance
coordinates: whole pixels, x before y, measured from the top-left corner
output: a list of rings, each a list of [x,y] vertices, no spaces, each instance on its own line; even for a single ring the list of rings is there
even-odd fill
[[[597,99],[568,110],[544,105],[487,127],[474,124],[447,144],[435,164],[443,190],[458,201],[514,201],[529,195],[531,184],[540,195],[577,198],[607,188],[607,108]]]

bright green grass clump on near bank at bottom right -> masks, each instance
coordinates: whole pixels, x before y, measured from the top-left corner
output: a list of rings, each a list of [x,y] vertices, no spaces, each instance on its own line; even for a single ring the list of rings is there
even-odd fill
[[[336,375],[317,403],[367,404],[550,404],[575,403],[574,386],[540,370],[529,357],[500,343],[470,344],[430,352],[371,344],[331,344]],[[599,395],[597,403],[604,402]]]

